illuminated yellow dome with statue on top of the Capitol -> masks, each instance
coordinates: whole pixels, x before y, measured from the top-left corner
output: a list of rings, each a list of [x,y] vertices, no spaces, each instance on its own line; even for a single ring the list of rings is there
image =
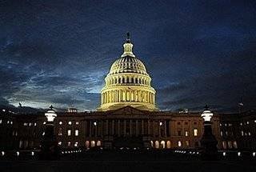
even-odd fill
[[[155,106],[155,90],[146,66],[133,54],[133,44],[127,34],[124,52],[110,68],[101,91],[101,106],[98,110],[115,110],[133,106],[141,110],[158,110]]]

